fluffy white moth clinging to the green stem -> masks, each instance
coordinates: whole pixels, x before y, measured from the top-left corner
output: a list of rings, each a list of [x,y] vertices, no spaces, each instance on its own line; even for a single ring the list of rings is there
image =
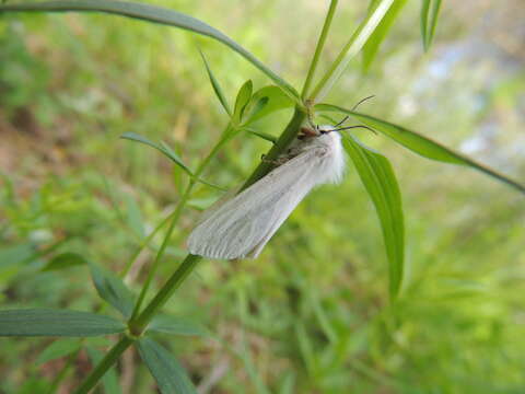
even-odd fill
[[[205,212],[188,239],[191,254],[223,259],[256,258],[312,188],[341,181],[345,172],[341,136],[332,126],[302,128],[278,162],[283,163]]]

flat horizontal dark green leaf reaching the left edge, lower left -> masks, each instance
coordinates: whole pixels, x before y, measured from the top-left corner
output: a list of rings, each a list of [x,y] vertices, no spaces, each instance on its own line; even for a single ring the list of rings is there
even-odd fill
[[[0,311],[0,336],[91,337],[124,333],[113,317],[70,310],[25,309]]]

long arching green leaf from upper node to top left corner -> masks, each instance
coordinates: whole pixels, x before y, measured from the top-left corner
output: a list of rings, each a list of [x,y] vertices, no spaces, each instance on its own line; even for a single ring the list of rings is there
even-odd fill
[[[284,92],[287,92],[287,94],[292,97],[298,104],[300,104],[300,96],[295,89],[293,89],[291,84],[284,81],[269,67],[267,67],[254,55],[252,55],[248,50],[243,48],[241,45],[238,45],[236,42],[234,42],[232,38],[223,34],[222,32],[218,31],[217,28],[203,23],[202,21],[199,21],[198,19],[174,10],[145,3],[116,0],[59,0],[0,5],[0,13],[65,11],[105,12],[110,14],[117,14],[121,16],[175,26],[214,38],[243,56],[252,65],[254,65],[266,76],[268,76],[268,78],[270,78]]]

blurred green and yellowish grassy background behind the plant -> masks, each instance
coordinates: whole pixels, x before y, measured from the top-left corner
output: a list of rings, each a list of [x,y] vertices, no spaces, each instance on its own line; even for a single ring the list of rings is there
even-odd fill
[[[158,0],[225,32],[300,86],[327,1]],[[322,63],[337,56],[366,2],[341,2]],[[427,54],[420,2],[402,10],[366,72],[357,59],[327,102],[420,131],[524,181],[525,7],[522,0],[444,2]],[[42,273],[75,252],[118,273],[179,198],[185,175],[126,131],[164,140],[196,165],[228,118],[198,47],[230,102],[242,83],[270,82],[206,38],[95,14],[0,18],[0,289],[5,308],[92,310],[85,267]],[[278,135],[278,113],[257,129]],[[357,131],[395,166],[406,212],[407,276],[387,297],[374,208],[349,166],[340,186],[312,193],[256,260],[205,260],[168,303],[209,338],[160,339],[200,393],[524,393],[525,205],[476,172],[427,161]],[[269,143],[242,135],[206,178],[226,188]],[[219,194],[199,187],[159,278],[185,255],[199,210]],[[161,237],[155,239],[158,246]],[[153,245],[153,247],[155,246]],[[151,252],[128,278],[140,289]],[[156,283],[159,285],[159,282]],[[108,312],[109,313],[109,312]],[[37,362],[50,339],[5,339],[0,393],[40,393],[63,359]],[[107,341],[90,341],[101,349]],[[60,387],[90,368],[82,352]],[[133,351],[118,366],[124,393],[154,392]]]

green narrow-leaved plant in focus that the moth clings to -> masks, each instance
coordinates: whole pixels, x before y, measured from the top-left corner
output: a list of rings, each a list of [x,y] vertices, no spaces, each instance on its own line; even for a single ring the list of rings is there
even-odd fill
[[[154,142],[142,135],[126,132],[121,137],[133,142],[139,142],[156,149],[167,157],[173,164],[187,177],[187,186],[178,200],[176,208],[153,229],[143,240],[141,247],[128,262],[125,269],[119,274],[110,273],[94,263],[86,262],[81,256],[62,256],[61,260],[54,260],[47,269],[60,269],[71,265],[89,265],[91,276],[95,283],[98,296],[105,301],[103,306],[95,313],[79,312],[72,310],[51,309],[20,309],[0,311],[0,335],[2,336],[58,336],[80,337],[117,335],[118,339],[105,354],[90,350],[93,359],[97,360],[95,368],[85,376],[77,387],[75,393],[88,393],[95,387],[101,380],[105,385],[115,384],[112,367],[117,362],[120,355],[129,347],[137,347],[143,362],[148,366],[151,374],[158,382],[162,393],[195,393],[196,390],[174,356],[160,343],[151,337],[151,333],[182,334],[183,332],[198,332],[198,328],[184,326],[176,317],[166,318],[159,313],[172,298],[180,285],[188,278],[194,269],[201,263],[201,257],[187,255],[178,263],[177,268],[152,297],[151,285],[158,274],[158,268],[170,244],[171,235],[179,223],[180,217],[188,201],[194,195],[196,186],[219,188],[213,179],[207,179],[205,171],[212,159],[234,138],[242,138],[246,134],[266,139],[271,142],[271,148],[265,153],[265,160],[253,171],[242,188],[246,188],[264,177],[271,170],[271,162],[276,160],[290,142],[296,137],[300,128],[307,124],[322,124],[327,121],[337,123],[348,116],[357,125],[363,125],[374,130],[378,136],[387,137],[405,149],[441,163],[469,166],[480,171],[495,181],[505,183],[518,193],[525,194],[525,186],[514,182],[490,167],[475,162],[474,160],[455,152],[445,146],[433,141],[417,131],[398,126],[389,120],[370,116],[360,111],[351,109],[341,105],[326,103],[324,100],[329,90],[339,81],[350,61],[362,56],[363,66],[370,67],[377,49],[396,18],[402,12],[406,0],[372,0],[366,14],[357,24],[353,33],[341,48],[338,56],[326,68],[323,74],[318,72],[318,66],[324,61],[323,48],[329,37],[330,25],[336,18],[338,1],[331,0],[327,4],[327,12],[317,45],[312,54],[312,60],[302,89],[293,86],[281,78],[265,62],[257,59],[241,44],[231,39],[224,33],[201,22],[200,20],[183,14],[175,10],[164,9],[148,3],[116,1],[116,0],[58,0],[44,2],[7,2],[0,5],[0,15],[15,12],[96,12],[109,14],[110,18],[132,18],[145,23],[164,25],[162,28],[183,28],[190,34],[198,34],[215,39],[224,44],[228,49],[242,56],[257,70],[268,77],[270,85],[254,91],[252,81],[247,81],[238,90],[233,105],[223,92],[218,76],[212,72],[212,65],[207,61],[206,54],[201,54],[203,69],[208,73],[217,99],[221,103],[228,118],[224,120],[223,131],[220,139],[210,149],[208,155],[195,167],[186,164],[180,157],[163,142]],[[428,50],[433,40],[441,1],[422,1],[421,8],[421,33],[424,50]],[[0,23],[2,23],[0,19]],[[270,34],[268,32],[268,34]],[[140,45],[140,43],[139,43]],[[256,120],[260,120],[275,112],[292,108],[293,116],[289,120],[279,138],[257,130],[253,127]],[[396,300],[402,289],[404,260],[405,260],[405,227],[401,207],[401,195],[388,159],[382,153],[364,146],[354,132],[345,132],[343,144],[350,158],[351,164],[359,174],[371,200],[376,209],[381,223],[383,240],[388,264],[388,292],[390,303],[395,308]],[[156,255],[148,267],[148,275],[142,283],[139,294],[135,294],[122,281],[122,278],[131,269],[140,252],[149,247],[153,236],[165,229],[163,242]],[[377,239],[377,243],[381,240]],[[386,286],[386,278],[385,278]],[[110,306],[121,314],[121,320],[104,315],[104,308]],[[60,347],[62,341],[57,341]],[[69,367],[78,354],[81,345],[73,345],[74,351],[68,348],[72,355],[69,358]],[[57,349],[55,349],[57,350]],[[49,350],[48,350],[49,351]],[[58,351],[58,350],[57,350]],[[57,376],[49,392],[52,392],[61,382],[63,375]],[[112,383],[113,382],[113,383]],[[106,386],[107,389],[107,386]]]

